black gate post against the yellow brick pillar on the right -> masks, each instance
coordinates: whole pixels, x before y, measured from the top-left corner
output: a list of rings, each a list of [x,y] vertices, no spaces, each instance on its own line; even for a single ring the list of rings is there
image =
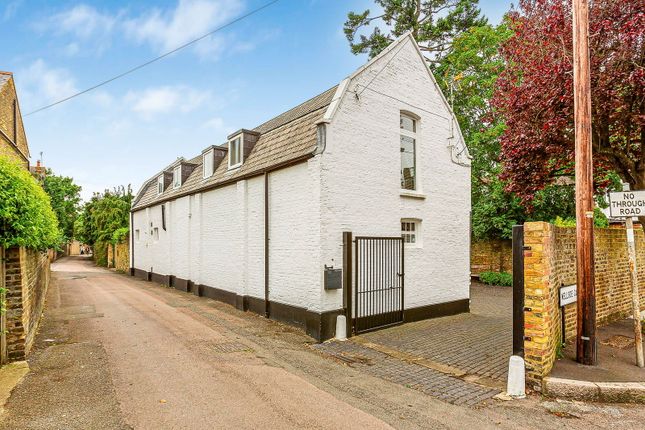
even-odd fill
[[[524,226],[513,226],[513,355],[524,357]]]

